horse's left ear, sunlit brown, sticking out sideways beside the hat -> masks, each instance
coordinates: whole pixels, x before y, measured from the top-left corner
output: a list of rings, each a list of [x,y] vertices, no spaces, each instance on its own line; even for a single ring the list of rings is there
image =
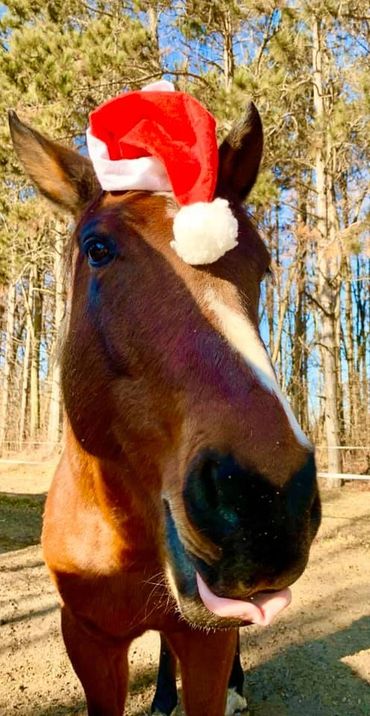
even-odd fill
[[[9,112],[15,151],[30,179],[44,196],[77,214],[99,191],[89,159],[52,142]]]

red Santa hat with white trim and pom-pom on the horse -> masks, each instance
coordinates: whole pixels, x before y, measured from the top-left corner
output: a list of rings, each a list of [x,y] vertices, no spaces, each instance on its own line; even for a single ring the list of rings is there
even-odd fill
[[[191,95],[163,80],[109,100],[90,115],[87,146],[104,190],[173,192],[171,246],[186,263],[213,263],[237,245],[238,222],[214,199],[216,122]]]

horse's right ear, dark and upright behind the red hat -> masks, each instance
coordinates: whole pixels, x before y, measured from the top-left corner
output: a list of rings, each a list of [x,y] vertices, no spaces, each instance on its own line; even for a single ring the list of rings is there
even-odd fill
[[[239,201],[246,198],[257,179],[262,149],[261,117],[250,102],[244,117],[234,124],[219,148],[217,196]]]

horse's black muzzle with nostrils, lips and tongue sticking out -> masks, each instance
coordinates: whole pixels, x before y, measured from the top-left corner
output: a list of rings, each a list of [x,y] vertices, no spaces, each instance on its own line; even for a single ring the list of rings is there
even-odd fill
[[[200,626],[269,624],[289,604],[320,524],[313,456],[276,487],[230,455],[203,453],[188,472],[183,508],[185,520],[165,501],[167,571],[183,615]]]

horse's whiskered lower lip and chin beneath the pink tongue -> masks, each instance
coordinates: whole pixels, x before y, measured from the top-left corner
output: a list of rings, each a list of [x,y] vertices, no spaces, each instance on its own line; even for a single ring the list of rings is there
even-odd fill
[[[165,526],[167,542],[166,578],[181,616],[192,626],[201,629],[230,629],[246,625],[241,619],[220,617],[203,604],[197,587],[196,569],[185,549],[165,502]]]

